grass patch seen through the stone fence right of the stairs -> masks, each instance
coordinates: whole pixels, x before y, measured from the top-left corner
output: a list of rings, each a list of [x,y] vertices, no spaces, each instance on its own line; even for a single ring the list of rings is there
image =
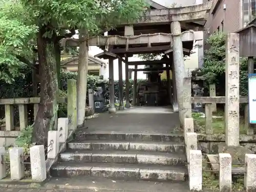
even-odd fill
[[[215,116],[224,116],[224,112],[217,112],[212,114]],[[205,133],[205,118],[201,117],[200,113],[192,113],[192,117],[199,126],[197,133]],[[240,134],[246,134],[246,127],[244,126],[244,119],[240,118]],[[212,118],[212,131],[214,134],[225,134],[225,118]]]

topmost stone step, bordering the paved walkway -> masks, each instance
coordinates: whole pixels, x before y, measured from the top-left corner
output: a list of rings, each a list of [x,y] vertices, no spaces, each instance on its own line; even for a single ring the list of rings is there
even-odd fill
[[[183,134],[168,134],[168,133],[121,133],[95,131],[86,133],[84,130],[76,132],[76,141],[82,140],[121,140],[121,141],[171,141],[183,142]]]

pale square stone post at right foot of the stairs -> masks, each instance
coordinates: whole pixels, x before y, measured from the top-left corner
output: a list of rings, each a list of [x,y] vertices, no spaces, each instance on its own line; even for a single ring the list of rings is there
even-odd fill
[[[189,150],[189,189],[202,190],[202,152]]]

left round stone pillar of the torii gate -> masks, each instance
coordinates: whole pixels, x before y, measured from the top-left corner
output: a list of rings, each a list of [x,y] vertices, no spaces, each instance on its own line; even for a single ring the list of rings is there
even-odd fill
[[[80,30],[79,61],[77,75],[77,126],[83,126],[86,115],[86,93],[87,93],[87,74],[88,74],[88,42],[86,32]]]

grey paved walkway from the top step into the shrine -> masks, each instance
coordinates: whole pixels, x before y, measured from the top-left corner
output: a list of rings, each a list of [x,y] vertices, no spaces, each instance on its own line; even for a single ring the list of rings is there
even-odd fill
[[[87,132],[177,133],[179,114],[168,106],[139,106],[86,121]],[[82,129],[82,128],[81,128]]]

